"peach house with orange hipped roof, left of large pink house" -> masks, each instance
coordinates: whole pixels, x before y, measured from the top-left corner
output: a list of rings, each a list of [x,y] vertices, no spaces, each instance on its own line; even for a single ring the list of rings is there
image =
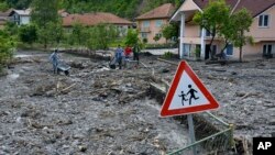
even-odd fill
[[[165,3],[135,18],[140,38],[147,40],[148,44],[155,44],[154,37],[158,35],[161,40],[157,43],[165,43],[166,40],[162,37],[162,27],[169,23],[174,11],[175,7],[172,3]]]

